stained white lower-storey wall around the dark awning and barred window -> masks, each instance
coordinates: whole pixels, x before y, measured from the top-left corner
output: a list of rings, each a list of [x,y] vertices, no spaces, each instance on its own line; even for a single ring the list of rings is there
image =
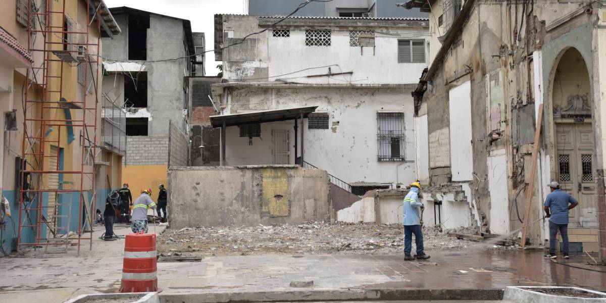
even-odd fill
[[[345,182],[389,183],[395,187],[396,184],[408,185],[417,178],[410,89],[239,89],[228,90],[227,99],[226,114],[305,106],[318,106],[316,112],[328,113],[328,129],[310,130],[305,120],[305,162],[327,170]],[[406,161],[378,161],[378,112],[404,113]],[[228,127],[227,164],[271,164],[271,130],[290,130],[290,160],[294,164],[293,126],[293,121],[261,124],[261,138],[253,138],[253,145],[249,145],[248,138],[239,138],[238,127]],[[301,155],[300,151],[298,155]]]

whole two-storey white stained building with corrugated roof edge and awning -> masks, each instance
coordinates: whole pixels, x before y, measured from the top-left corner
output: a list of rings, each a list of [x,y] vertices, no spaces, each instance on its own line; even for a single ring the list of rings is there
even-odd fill
[[[427,67],[427,19],[280,19],[215,16],[223,164],[315,166],[355,193],[415,181],[411,92]]]

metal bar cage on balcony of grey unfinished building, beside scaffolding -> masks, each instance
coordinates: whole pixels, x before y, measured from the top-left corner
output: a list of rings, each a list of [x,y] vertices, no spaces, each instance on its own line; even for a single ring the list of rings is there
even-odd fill
[[[108,96],[103,96],[101,138],[105,147],[118,153],[126,150],[126,111]]]

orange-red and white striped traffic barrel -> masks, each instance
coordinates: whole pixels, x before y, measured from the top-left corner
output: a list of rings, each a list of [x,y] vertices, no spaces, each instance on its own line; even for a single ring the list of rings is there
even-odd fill
[[[156,234],[126,235],[121,293],[158,291],[156,271]]]

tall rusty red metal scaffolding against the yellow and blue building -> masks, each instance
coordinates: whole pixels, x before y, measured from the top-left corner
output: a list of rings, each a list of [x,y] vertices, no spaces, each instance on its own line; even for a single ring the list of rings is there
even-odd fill
[[[81,242],[93,245],[100,5],[85,0],[76,25],[66,2],[79,1],[25,1],[35,64],[25,79],[18,250],[64,245],[79,253]]]

